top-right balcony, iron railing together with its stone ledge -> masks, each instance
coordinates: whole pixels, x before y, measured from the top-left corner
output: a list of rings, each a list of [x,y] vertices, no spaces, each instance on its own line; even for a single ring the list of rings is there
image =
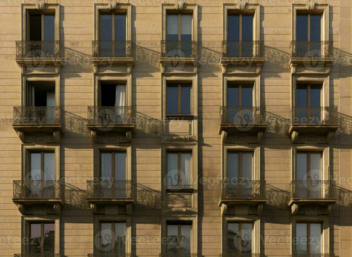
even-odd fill
[[[291,58],[289,65],[292,64],[332,64],[333,41],[291,41]]]

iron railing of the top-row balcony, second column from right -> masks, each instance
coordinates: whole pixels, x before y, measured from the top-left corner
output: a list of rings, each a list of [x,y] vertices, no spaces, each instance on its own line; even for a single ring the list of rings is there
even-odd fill
[[[263,41],[222,41],[222,57],[263,58]]]

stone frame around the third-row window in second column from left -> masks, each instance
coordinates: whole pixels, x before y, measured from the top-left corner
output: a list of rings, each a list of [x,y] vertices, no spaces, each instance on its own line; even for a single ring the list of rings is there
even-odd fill
[[[94,179],[100,177],[100,152],[102,151],[126,152],[126,180],[132,180],[131,144],[94,144]]]

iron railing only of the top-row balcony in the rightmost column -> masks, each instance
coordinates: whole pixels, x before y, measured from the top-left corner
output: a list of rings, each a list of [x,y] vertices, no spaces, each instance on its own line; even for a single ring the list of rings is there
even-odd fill
[[[333,58],[333,41],[291,41],[291,57]]]

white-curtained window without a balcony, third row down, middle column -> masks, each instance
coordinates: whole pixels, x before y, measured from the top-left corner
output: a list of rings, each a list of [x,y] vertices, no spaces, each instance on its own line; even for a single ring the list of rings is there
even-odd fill
[[[190,187],[192,152],[178,151],[167,153],[166,187]]]

